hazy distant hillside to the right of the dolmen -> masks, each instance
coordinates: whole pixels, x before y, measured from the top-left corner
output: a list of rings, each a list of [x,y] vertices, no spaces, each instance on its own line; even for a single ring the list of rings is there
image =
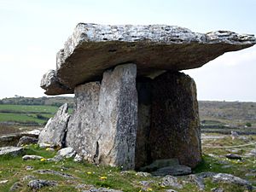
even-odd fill
[[[199,102],[202,131],[256,134],[255,102]]]

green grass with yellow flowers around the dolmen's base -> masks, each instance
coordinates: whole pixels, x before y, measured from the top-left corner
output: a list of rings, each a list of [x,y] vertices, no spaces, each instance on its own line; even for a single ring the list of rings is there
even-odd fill
[[[215,134],[218,135],[218,134]],[[250,142],[256,140],[255,136],[248,137]],[[247,143],[245,140],[237,139],[231,140],[230,137],[224,137],[221,139],[209,139],[206,143],[203,142],[203,146],[212,147],[230,147],[234,145],[241,145]],[[237,153],[244,155],[256,146],[246,146],[241,148]],[[230,148],[229,148],[230,149]],[[231,148],[232,149],[232,148]],[[245,178],[254,186],[256,186],[256,179],[253,176],[247,176],[247,172],[256,170],[256,160],[253,157],[243,158],[242,160],[228,160],[224,157],[227,154],[227,148],[206,148],[203,147],[203,157],[201,164],[197,166],[193,173],[199,172],[224,172],[230,173],[237,177]],[[26,154],[37,154],[44,158],[53,157],[56,152],[47,151],[44,148],[38,148],[38,145],[26,146]],[[212,155],[213,154],[213,155]],[[26,166],[32,166],[32,171],[27,171]],[[225,166],[225,167],[224,167]],[[73,175],[76,179],[66,179],[61,176],[55,176],[50,174],[38,174],[33,172],[39,169],[50,169],[57,172],[65,172]],[[0,191],[9,191],[10,187],[17,181],[20,181],[22,177],[26,175],[32,175],[38,179],[55,180],[58,185],[55,187],[45,187],[39,191],[81,191],[82,189],[76,189],[79,184],[94,185],[96,188],[110,188],[119,189],[125,192],[139,192],[139,191],[166,191],[171,189],[170,187],[160,186],[161,177],[140,177],[137,172],[121,172],[119,167],[111,166],[96,166],[86,162],[77,163],[71,159],[61,160],[60,162],[40,161],[40,160],[27,160],[18,157],[2,156],[0,157],[0,181],[9,180],[8,183],[0,184]],[[103,177],[103,179],[101,178]],[[175,189],[179,192],[187,191],[199,191],[195,183],[189,181],[189,177],[182,176],[177,177],[179,183],[183,183],[183,189]],[[143,186],[140,181],[154,181],[147,187]],[[22,187],[20,191],[30,191],[27,187],[28,181],[20,181]],[[213,183],[212,179],[205,179],[206,189],[204,191],[212,191],[213,188],[222,188],[225,192],[240,192],[247,191],[242,186],[227,183]],[[143,190],[145,189],[145,190]]]

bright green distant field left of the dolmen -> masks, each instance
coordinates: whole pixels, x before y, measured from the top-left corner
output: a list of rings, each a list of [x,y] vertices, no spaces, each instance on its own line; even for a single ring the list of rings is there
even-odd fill
[[[0,122],[44,125],[57,111],[54,106],[0,105]]]

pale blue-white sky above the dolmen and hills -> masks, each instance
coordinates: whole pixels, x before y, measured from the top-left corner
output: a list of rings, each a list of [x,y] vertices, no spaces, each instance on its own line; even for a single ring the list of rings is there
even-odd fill
[[[79,22],[256,34],[255,0],[0,0],[0,98],[44,96],[42,75]],[[256,45],[184,71],[199,100],[256,102]]]

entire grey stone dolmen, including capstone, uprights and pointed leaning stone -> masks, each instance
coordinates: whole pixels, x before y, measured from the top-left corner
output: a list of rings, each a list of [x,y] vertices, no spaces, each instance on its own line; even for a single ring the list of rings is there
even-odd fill
[[[139,169],[155,160],[201,161],[195,81],[180,71],[256,44],[253,35],[179,26],[79,23],[44,74],[49,96],[74,93],[39,136],[91,163]]]

